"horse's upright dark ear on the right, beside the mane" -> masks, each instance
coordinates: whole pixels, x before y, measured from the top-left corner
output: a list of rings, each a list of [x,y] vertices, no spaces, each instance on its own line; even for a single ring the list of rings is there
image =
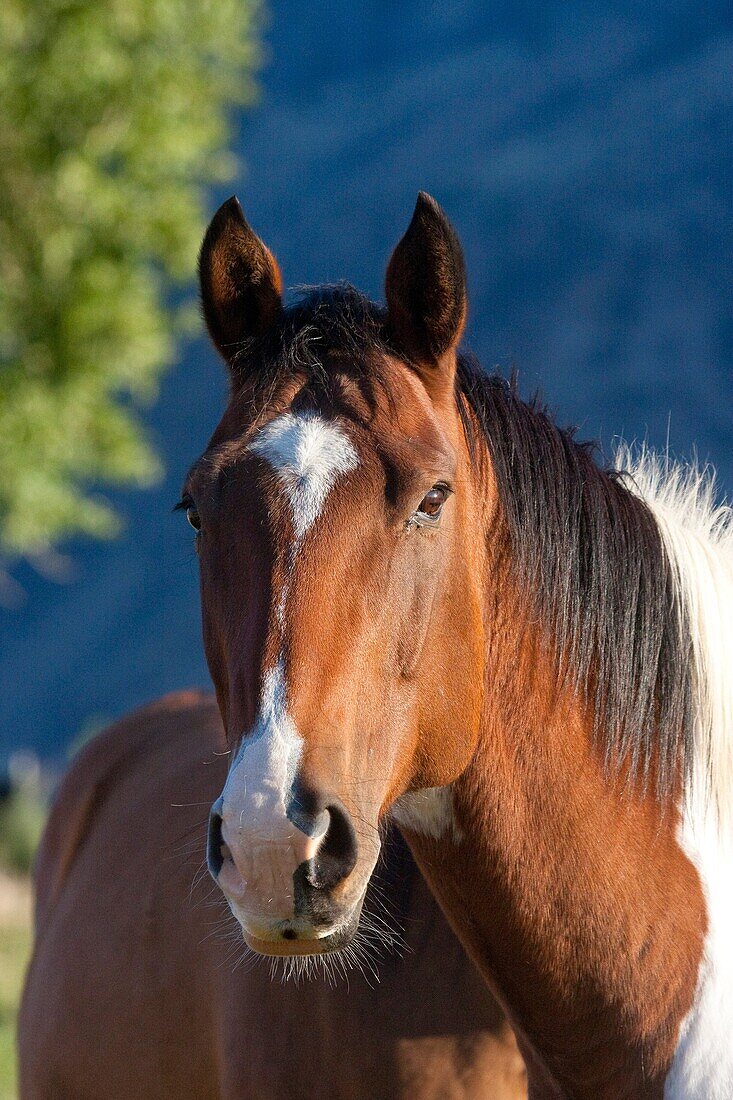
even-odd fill
[[[452,387],[452,354],[466,323],[466,265],[453,227],[420,191],[413,220],[386,272],[392,338],[435,395]]]

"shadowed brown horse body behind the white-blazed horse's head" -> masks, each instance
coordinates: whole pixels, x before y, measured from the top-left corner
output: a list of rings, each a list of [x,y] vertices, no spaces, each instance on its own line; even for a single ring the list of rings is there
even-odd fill
[[[226,754],[214,698],[184,692],[68,769],[35,871],[21,1096],[524,1100],[506,1019],[396,831],[366,903],[370,954],[343,964],[363,976],[283,985],[243,957],[203,864]],[[372,942],[395,936],[378,971]]]

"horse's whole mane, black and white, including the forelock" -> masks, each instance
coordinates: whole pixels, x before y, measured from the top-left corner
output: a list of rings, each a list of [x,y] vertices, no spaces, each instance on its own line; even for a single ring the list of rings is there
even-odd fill
[[[386,312],[346,283],[304,288],[276,331],[242,345],[234,377],[238,359],[254,356],[263,404],[294,374],[305,375],[309,397],[330,396],[332,350],[369,400],[393,399]],[[595,444],[578,442],[537,399],[523,400],[514,380],[472,356],[459,356],[456,396],[472,454],[481,442],[489,450],[517,579],[561,683],[592,708],[606,762],[626,762],[645,787],[654,774],[660,798],[676,789],[680,766],[689,777],[701,745],[710,773],[733,751],[720,733],[723,719],[733,728],[733,692],[705,640],[723,632],[730,668],[733,628],[709,622],[715,594],[696,579],[690,549],[704,537],[713,558],[727,557],[733,607],[733,521],[730,508],[714,506],[712,475],[627,449],[603,465]],[[700,592],[709,594],[708,627]],[[733,759],[727,778],[733,790]]]

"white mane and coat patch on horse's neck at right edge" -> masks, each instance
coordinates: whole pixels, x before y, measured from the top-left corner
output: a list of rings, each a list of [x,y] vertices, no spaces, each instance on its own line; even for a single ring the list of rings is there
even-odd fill
[[[619,469],[654,513],[691,629],[697,722],[679,843],[700,876],[708,935],[665,1100],[733,1097],[733,513],[712,475],[647,450]]]

